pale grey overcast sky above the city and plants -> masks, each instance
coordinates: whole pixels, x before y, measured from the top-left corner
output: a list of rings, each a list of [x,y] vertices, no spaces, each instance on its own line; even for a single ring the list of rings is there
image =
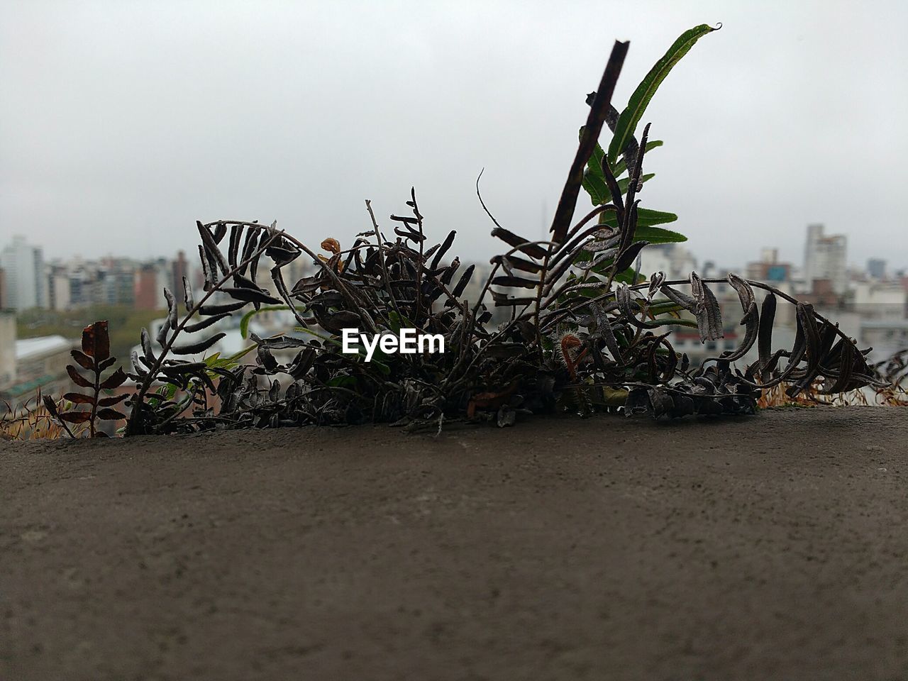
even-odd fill
[[[666,144],[643,205],[676,212],[701,262],[800,263],[824,222],[849,262],[908,267],[898,0],[5,0],[0,242],[172,255],[220,218],[350,242],[363,199],[387,226],[415,185],[430,234],[486,258],[480,169],[498,221],[538,237],[614,39],[620,109],[677,35],[717,22],[646,111]]]

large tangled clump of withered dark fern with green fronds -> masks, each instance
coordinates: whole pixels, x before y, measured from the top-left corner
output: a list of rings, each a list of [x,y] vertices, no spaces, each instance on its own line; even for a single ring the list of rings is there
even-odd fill
[[[136,390],[127,434],[373,421],[440,428],[444,419],[506,426],[520,413],[558,409],[654,417],[752,413],[761,391],[777,386],[791,398],[821,380],[824,393],[882,386],[854,341],[783,291],[734,274],[666,281],[656,272],[646,280],[634,267],[647,245],[685,241],[659,226],[676,220],[673,213],[639,206],[637,196],[653,177],[643,172],[646,154],[661,142],[649,141],[648,124],[637,141],[637,123],[666,74],[713,30],[702,25],[681,35],[620,114],[611,94],[627,43],[615,45],[597,91],[587,96],[587,123],[547,240],[505,229],[479,195],[495,224],[492,235],[508,249],[492,259],[474,301],[463,297],[473,266],[461,269],[458,258],[446,259],[455,232],[429,247],[413,190],[408,214],[390,216],[393,236],[382,231],[367,201],[370,230],[346,249],[325,239],[321,250],[328,255],[274,224],[199,222],[204,294],[196,301],[184,280],[181,317],[165,289],[161,350],[143,330],[142,352],[132,358]],[[605,125],[612,131],[607,151],[597,143]],[[593,208],[572,225],[581,188]],[[287,265],[301,257],[314,273],[286,281]],[[701,341],[721,338],[721,311],[709,288],[719,281],[737,291],[745,338],[692,370],[674,350],[671,329],[691,326]],[[762,306],[755,289],[767,291]],[[488,326],[489,295],[494,307],[509,312],[496,328]],[[797,335],[792,348],[774,351],[780,301],[795,305]],[[290,311],[296,326],[269,338],[249,333],[252,365],[238,364],[238,356],[204,357],[223,336],[213,332],[218,322],[250,307],[244,335],[252,315],[264,310]],[[202,341],[178,342],[183,332],[210,328]],[[339,336],[350,328],[440,334],[446,351],[378,351],[366,361],[361,352],[341,352]],[[738,370],[735,361],[755,345],[758,360]]]

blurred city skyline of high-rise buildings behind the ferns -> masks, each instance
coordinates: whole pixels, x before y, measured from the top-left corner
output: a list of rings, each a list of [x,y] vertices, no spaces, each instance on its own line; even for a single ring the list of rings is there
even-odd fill
[[[66,310],[72,306],[130,305],[141,310],[156,310],[162,304],[163,287],[179,294],[183,281],[192,288],[203,286],[202,267],[195,262],[194,251],[179,249],[170,257],[134,258],[105,255],[100,258],[44,259],[43,250],[15,235],[8,244],[0,243],[0,308],[23,311],[31,308]],[[453,257],[453,256],[452,256]],[[735,272],[757,281],[785,282],[791,291],[813,296],[823,304],[854,297],[861,281],[876,281],[908,295],[908,271],[893,267],[886,259],[870,258],[863,266],[845,266],[848,240],[842,234],[828,232],[822,223],[806,226],[804,249],[800,259],[787,259],[776,247],[765,247],[745,263],[733,268],[723,262],[700,258],[687,243],[651,245],[641,252],[637,267],[648,277],[663,271],[670,278],[686,279],[691,271],[704,278]],[[463,261],[474,264],[470,282],[474,287],[490,270],[489,262]],[[301,257],[291,263],[289,273],[296,279],[311,274],[314,263]],[[858,295],[860,298],[861,296]],[[891,304],[893,301],[887,301]],[[898,305],[896,301],[896,306]],[[905,316],[908,303],[903,302]]]

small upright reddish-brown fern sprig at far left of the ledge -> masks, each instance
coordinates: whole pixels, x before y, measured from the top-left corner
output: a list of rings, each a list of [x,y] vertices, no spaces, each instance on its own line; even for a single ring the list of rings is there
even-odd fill
[[[126,393],[103,397],[102,390],[114,390],[123,385],[126,380],[126,374],[119,367],[116,368],[107,378],[102,378],[104,371],[110,369],[116,363],[116,358],[110,353],[110,336],[107,332],[106,321],[95,321],[89,324],[82,331],[82,350],[71,350],[73,359],[84,370],[90,371],[92,377],[86,379],[74,365],[66,365],[66,372],[77,386],[81,388],[90,388],[89,394],[81,392],[67,392],[63,399],[72,403],[72,407],[66,410],[58,410],[57,405],[50,398],[44,396],[44,407],[46,410],[59,419],[61,426],[74,437],[72,430],[66,425],[67,423],[85,423],[88,425],[88,431],[91,437],[105,437],[105,433],[96,429],[95,423],[98,420],[121,420],[126,415],[114,409],[114,406],[125,400],[128,396]],[[78,405],[87,406],[88,409],[76,409]]]

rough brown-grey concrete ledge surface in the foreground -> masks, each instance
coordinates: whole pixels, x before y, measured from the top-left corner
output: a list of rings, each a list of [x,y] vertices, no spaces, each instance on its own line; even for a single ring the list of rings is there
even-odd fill
[[[908,411],[0,445],[0,679],[905,679]]]

